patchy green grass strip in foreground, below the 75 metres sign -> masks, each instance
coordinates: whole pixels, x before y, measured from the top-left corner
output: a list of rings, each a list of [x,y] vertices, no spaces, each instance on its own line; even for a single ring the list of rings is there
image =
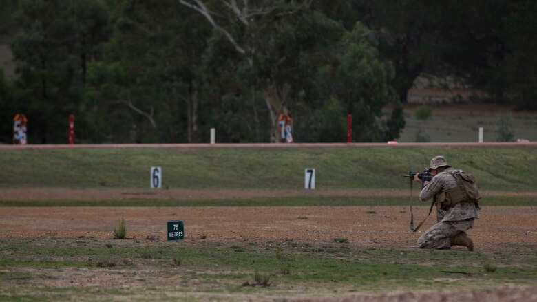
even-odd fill
[[[74,280],[83,273],[101,272],[102,268],[117,270],[125,282],[143,281],[144,292],[151,295],[161,290],[162,278],[178,272],[185,279],[200,284],[197,292],[243,292],[255,288],[255,292],[260,294],[263,292],[257,290],[263,290],[266,285],[276,285],[278,290],[283,291],[286,287],[282,285],[330,290],[337,281],[338,286],[344,288],[386,292],[403,288],[434,290],[439,285],[445,289],[505,283],[528,285],[534,284],[537,276],[537,268],[533,265],[537,262],[537,255],[532,252],[520,253],[516,249],[483,254],[456,250],[364,249],[350,244],[342,246],[295,241],[272,242],[260,248],[247,242],[230,245],[204,242],[177,246],[145,240],[120,241],[109,249],[105,247],[105,239],[87,241],[87,246],[76,244],[76,240],[0,239],[2,249],[11,252],[0,252],[0,281],[13,288],[12,296],[17,296],[25,290],[25,285],[20,281],[32,277],[27,273],[29,270],[62,268],[61,263],[78,263],[85,267],[84,270],[64,271],[65,274],[72,272],[71,278]],[[66,250],[70,250],[71,254],[65,255]],[[278,253],[281,256],[276,258],[280,259],[275,261]],[[142,261],[140,255],[144,254],[158,257]],[[43,263],[47,264],[43,266]],[[123,265],[126,263],[134,264]],[[494,274],[487,271],[486,263],[494,263]],[[39,270],[40,278],[48,278],[52,272]],[[254,272],[253,276],[251,272]],[[53,276],[50,275],[50,278]],[[248,278],[248,286],[240,286],[238,280]],[[441,281],[443,279],[450,279],[450,282]],[[181,280],[177,279],[179,283],[176,285],[170,283],[169,290],[185,290]],[[235,284],[233,290],[229,289],[230,283]],[[84,286],[81,285],[81,299],[97,299],[98,294],[103,294],[92,292]],[[115,295],[112,292],[107,299],[113,299]]]

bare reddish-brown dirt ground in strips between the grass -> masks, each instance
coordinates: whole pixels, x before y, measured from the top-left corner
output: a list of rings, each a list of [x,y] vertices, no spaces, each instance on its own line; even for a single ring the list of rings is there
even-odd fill
[[[390,194],[400,194],[390,191]],[[408,194],[408,191],[405,191]],[[208,191],[120,189],[1,189],[0,200],[45,199],[222,199],[294,196],[304,191]],[[375,195],[377,191],[317,191],[317,195]],[[496,193],[484,193],[484,195]],[[498,193],[499,194],[499,193]],[[534,196],[536,193],[525,193]],[[386,191],[383,192],[386,195]],[[389,194],[388,194],[389,195]],[[421,221],[428,206],[414,206],[414,221]],[[95,237],[113,238],[120,217],[127,222],[127,237],[166,240],[168,220],[183,220],[185,242],[244,243],[271,241],[333,242],[347,238],[357,247],[415,249],[421,234],[409,230],[408,206],[290,206],[290,207],[1,207],[0,238]],[[477,252],[507,250],[518,244],[537,245],[537,207],[484,207],[469,235]],[[429,217],[423,230],[434,224]],[[454,248],[463,251],[463,248]],[[537,285],[537,282],[536,282]],[[300,295],[297,296],[298,299]],[[245,297],[241,297],[245,298]],[[456,299],[455,299],[456,298]],[[479,298],[479,299],[478,299]],[[483,298],[483,299],[482,299]],[[310,300],[309,300],[310,301]],[[316,300],[317,301],[317,300]],[[537,286],[453,292],[391,292],[327,296],[322,301],[537,301]]]

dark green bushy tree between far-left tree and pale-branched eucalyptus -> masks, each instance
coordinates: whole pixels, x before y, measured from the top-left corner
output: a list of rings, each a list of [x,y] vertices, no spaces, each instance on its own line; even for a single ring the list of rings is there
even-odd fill
[[[120,1],[103,60],[90,65],[89,107],[114,142],[198,141],[199,66],[207,26],[176,1]]]

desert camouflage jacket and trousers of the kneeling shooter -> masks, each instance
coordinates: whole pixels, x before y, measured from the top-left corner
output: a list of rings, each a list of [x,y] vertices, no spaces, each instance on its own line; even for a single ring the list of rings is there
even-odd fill
[[[455,177],[450,175],[454,169],[447,168],[434,176],[427,186],[421,190],[419,199],[431,199],[437,193],[457,185]],[[442,210],[436,205],[436,224],[423,233],[418,239],[420,248],[450,248],[450,237],[474,227],[474,218],[479,218],[479,210],[473,202],[459,202]]]

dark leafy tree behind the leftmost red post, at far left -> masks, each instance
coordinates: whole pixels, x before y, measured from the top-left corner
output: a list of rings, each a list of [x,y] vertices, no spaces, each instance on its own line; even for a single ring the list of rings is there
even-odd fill
[[[17,14],[22,32],[10,41],[19,75],[14,101],[28,116],[30,142],[66,142],[69,114],[79,125],[85,120],[86,65],[107,39],[107,13],[96,0],[21,0]]]

